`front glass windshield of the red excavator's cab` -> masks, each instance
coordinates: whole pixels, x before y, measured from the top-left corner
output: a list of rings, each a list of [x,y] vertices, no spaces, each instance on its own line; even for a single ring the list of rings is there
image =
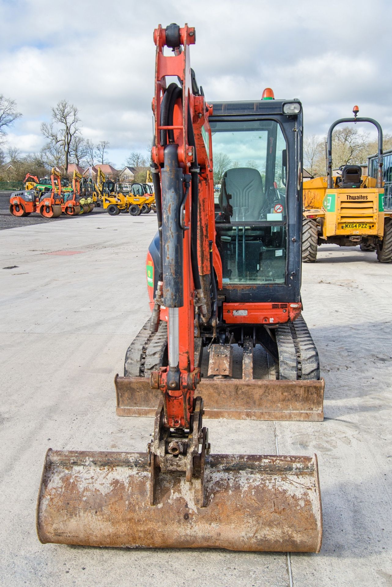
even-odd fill
[[[224,284],[285,283],[287,147],[274,120],[211,120]]]

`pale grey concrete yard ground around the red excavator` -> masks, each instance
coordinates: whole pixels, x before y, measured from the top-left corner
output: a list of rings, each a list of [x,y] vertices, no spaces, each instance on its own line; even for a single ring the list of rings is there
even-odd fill
[[[155,231],[155,215],[92,214],[0,233],[2,585],[391,586],[392,266],[359,248],[321,247],[303,268],[325,420],[207,421],[215,453],[275,454],[276,443],[281,454],[317,453],[320,554],[38,541],[48,447],[140,451],[153,431],[152,419],[116,417],[113,377],[149,315],[145,257]]]

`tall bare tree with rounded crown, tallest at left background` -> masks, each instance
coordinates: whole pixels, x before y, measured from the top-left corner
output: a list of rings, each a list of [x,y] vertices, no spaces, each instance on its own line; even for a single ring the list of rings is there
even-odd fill
[[[64,153],[64,173],[68,170],[69,153],[73,137],[80,132],[79,110],[67,100],[60,100],[52,108],[52,122],[41,124],[41,132],[53,146],[60,145]]]

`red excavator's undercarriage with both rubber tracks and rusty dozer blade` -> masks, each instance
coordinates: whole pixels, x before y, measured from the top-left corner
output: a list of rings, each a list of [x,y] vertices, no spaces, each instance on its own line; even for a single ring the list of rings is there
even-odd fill
[[[263,326],[237,330],[236,344],[195,339],[194,363],[206,375],[197,387],[205,417],[322,421],[324,380],[302,316],[269,333]],[[150,376],[165,365],[167,322],[153,333],[148,321],[127,350],[124,377],[114,379],[118,416],[154,416],[161,392],[151,389]]]

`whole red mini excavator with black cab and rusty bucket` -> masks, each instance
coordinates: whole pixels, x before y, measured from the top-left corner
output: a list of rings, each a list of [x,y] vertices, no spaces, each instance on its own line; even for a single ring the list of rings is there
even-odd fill
[[[316,456],[212,454],[202,421],[322,419],[317,351],[300,317],[302,106],[208,104],[190,68],[195,29],[158,26],[154,41],[153,312],[127,353],[128,376],[116,378],[123,409],[150,414],[155,402],[154,435],[147,453],[49,449],[39,539],[318,552]],[[213,151],[239,162],[216,211]],[[261,378],[261,349],[279,379]]]

